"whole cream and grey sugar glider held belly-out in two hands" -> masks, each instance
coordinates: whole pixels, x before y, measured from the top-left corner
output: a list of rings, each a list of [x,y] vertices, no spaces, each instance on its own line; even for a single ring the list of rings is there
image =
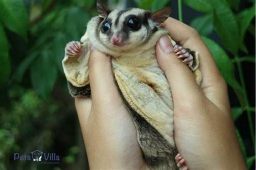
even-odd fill
[[[152,170],[187,169],[174,143],[170,85],[155,56],[158,39],[168,36],[168,31],[160,25],[169,17],[170,8],[156,12],[139,8],[110,11],[98,0],[97,9],[99,15],[89,21],[80,42],[72,41],[65,47],[62,63],[70,94],[91,95],[88,68],[91,45],[112,56],[114,79],[133,118],[148,166]],[[199,54],[173,40],[172,43],[177,57],[183,59],[200,84]]]

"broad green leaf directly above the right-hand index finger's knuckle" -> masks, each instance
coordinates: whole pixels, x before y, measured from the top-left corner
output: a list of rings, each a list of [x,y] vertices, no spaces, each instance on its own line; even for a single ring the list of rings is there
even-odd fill
[[[208,36],[213,31],[213,18],[212,14],[207,14],[194,19],[190,26],[195,28],[200,35]]]

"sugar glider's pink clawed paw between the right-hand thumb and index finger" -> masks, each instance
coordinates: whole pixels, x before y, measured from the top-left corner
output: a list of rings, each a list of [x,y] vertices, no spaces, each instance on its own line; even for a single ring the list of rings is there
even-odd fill
[[[189,66],[192,66],[194,57],[192,54],[190,54],[190,51],[188,49],[185,49],[184,47],[176,44],[173,50],[174,50],[174,53],[178,56],[178,58],[183,59],[182,62],[184,62]]]

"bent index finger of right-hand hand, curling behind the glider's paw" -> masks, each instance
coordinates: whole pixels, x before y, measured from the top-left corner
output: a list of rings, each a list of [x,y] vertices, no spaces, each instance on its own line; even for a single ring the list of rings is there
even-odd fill
[[[230,107],[226,83],[219,72],[214,58],[197,31],[173,18],[168,18],[162,24],[162,27],[167,29],[170,36],[180,45],[199,52],[199,69],[203,76],[201,88],[205,96],[212,103],[217,105],[222,111],[229,113]]]

